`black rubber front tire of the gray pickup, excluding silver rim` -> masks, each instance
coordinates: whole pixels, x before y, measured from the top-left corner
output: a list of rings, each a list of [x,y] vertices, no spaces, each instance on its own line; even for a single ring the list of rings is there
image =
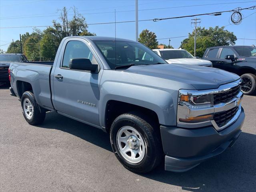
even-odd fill
[[[145,155],[143,159],[138,163],[132,163],[126,160],[117,145],[116,136],[118,130],[124,126],[130,126],[135,128],[136,131],[142,136],[145,143]],[[160,137],[160,128],[154,122],[150,122],[146,117],[137,112],[130,112],[118,116],[110,128],[110,141],[112,149],[116,158],[122,163],[122,165],[137,173],[147,173],[158,166],[163,159],[163,150]]]

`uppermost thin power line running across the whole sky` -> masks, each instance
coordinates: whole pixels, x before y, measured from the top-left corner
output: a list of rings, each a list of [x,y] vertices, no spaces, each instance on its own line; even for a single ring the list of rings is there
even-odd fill
[[[220,4],[234,4],[234,3],[248,3],[248,2],[254,2],[254,1],[247,1],[247,2],[231,2],[231,3],[215,3],[215,4],[199,4],[199,5],[188,5],[188,6],[176,6],[176,7],[164,7],[164,8],[152,8],[152,9],[140,9],[138,11],[146,11],[146,10],[162,10],[162,9],[172,9],[172,8],[185,8],[185,7],[194,7],[194,6],[209,6],[209,5],[220,5]],[[135,10],[124,10],[124,11],[116,11],[116,12],[133,12]],[[81,15],[90,15],[90,14],[105,14],[105,13],[114,13],[111,12],[95,12],[95,13],[80,13]],[[20,18],[37,18],[37,17],[52,17],[52,16],[59,16],[59,15],[49,15],[49,14],[55,14],[55,13],[48,13],[46,16],[10,16],[10,17],[2,17],[0,20],[7,20],[7,19],[20,19]],[[36,15],[42,15],[42,14],[36,14]],[[74,14],[68,14],[69,16]]]

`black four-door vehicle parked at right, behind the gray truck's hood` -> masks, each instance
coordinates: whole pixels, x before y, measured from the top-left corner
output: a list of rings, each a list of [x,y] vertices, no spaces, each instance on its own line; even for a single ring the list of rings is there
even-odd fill
[[[256,93],[256,47],[218,46],[207,48],[202,57],[212,62],[214,68],[223,69],[241,76],[242,92]]]

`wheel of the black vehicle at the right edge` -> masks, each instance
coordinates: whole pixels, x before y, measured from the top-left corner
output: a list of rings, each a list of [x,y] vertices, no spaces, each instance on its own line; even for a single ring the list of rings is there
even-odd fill
[[[246,73],[241,76],[242,92],[246,95],[254,95],[256,93],[256,76],[251,73]]]

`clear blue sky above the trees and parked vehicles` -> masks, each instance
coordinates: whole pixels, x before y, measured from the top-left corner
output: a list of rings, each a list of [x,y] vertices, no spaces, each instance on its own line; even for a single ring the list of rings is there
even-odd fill
[[[226,4],[221,4],[226,3]],[[139,20],[176,17],[191,14],[202,14],[224,10],[232,10],[237,7],[245,8],[255,6],[255,0],[138,0]],[[218,5],[204,5],[218,4]],[[204,6],[194,6],[204,5]],[[114,10],[116,9],[116,21],[135,20],[135,0],[0,0],[0,48],[6,50],[7,44],[12,39],[18,40],[19,34],[32,32],[32,28],[3,28],[14,26],[47,26],[52,20],[58,20],[57,10],[66,6],[76,6],[83,14],[88,24],[100,22],[114,22]],[[186,6],[180,8],[170,8]],[[164,8],[164,9],[156,9]],[[144,10],[156,9],[156,10]],[[125,11],[125,12],[122,12]],[[110,13],[102,13],[110,12]],[[244,17],[248,16],[239,25],[229,25],[231,13],[222,13],[221,16],[198,16],[201,19],[200,26],[226,26],[226,29],[234,32],[237,38],[254,40],[236,41],[237,45],[256,45],[256,10],[243,10]],[[252,14],[252,15],[250,15]],[[249,16],[250,15],[250,16]],[[16,18],[14,18],[16,17]],[[19,17],[19,18],[17,18]],[[30,17],[30,18],[26,18]],[[72,16],[70,16],[72,17]],[[180,18],[159,22],[139,22],[139,33],[148,29],[156,33],[157,38],[169,38],[186,36],[192,32],[192,18]],[[228,25],[228,26],[227,26]],[[40,27],[44,30],[46,27]],[[89,25],[88,30],[97,36],[114,36],[114,24]],[[135,40],[135,22],[116,24],[116,36]],[[180,46],[183,38],[172,38],[171,45],[174,48]],[[169,39],[158,40],[159,44],[168,44]]]

